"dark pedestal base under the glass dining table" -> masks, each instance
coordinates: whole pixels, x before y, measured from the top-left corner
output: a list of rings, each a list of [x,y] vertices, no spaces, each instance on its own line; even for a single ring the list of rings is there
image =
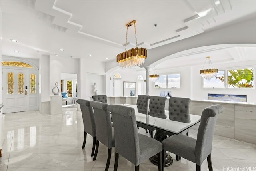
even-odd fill
[[[157,141],[162,142],[166,138],[167,138],[166,131],[156,129],[156,134],[154,135],[154,139],[156,139]],[[170,155],[168,155],[168,153],[165,153],[164,156],[165,156],[164,157],[164,160],[165,160],[165,165],[164,166],[166,167],[166,166],[172,165],[172,163],[173,163],[172,157]],[[154,165],[158,165],[158,155],[154,155],[153,157],[150,157],[149,160]]]

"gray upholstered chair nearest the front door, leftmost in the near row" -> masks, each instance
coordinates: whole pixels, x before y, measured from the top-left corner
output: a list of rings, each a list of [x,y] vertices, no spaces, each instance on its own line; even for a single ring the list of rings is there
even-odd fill
[[[96,144],[96,126],[95,126],[95,120],[94,120],[94,113],[93,113],[92,107],[90,107],[90,102],[91,101],[84,100],[84,99],[78,99],[76,101],[76,103],[80,105],[82,118],[84,122],[84,143],[82,148],[85,147],[87,133],[92,135],[93,145],[92,145],[91,156],[93,156],[94,150],[95,150],[95,144]]]

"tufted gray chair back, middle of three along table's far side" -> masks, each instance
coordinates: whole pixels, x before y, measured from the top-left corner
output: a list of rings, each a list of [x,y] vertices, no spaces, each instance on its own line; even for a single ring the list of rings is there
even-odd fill
[[[164,106],[166,97],[150,96],[149,114],[150,115],[165,115]]]

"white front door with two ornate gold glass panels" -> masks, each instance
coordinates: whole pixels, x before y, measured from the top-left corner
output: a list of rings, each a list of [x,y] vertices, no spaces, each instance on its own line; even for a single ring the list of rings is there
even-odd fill
[[[2,71],[3,113],[28,111],[28,70]]]

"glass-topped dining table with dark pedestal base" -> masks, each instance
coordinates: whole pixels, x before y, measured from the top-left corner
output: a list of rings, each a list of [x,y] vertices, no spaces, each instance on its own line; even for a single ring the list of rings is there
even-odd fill
[[[201,119],[201,116],[199,115],[186,113],[173,114],[168,110],[165,110],[161,115],[159,113],[154,113],[153,111],[149,111],[148,114],[143,114],[139,112],[140,109],[138,111],[137,105],[121,105],[134,108],[138,127],[149,129],[150,131],[156,130],[154,139],[160,142],[166,139],[167,135],[171,136],[188,130],[188,128],[199,123]],[[151,157],[150,161],[153,164],[158,165],[158,155]],[[165,166],[172,165],[172,157],[167,153],[165,155],[165,161]]]

